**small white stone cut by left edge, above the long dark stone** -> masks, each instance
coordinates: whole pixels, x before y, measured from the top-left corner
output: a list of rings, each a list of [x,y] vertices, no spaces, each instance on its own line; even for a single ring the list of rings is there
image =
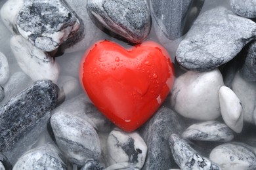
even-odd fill
[[[10,70],[7,58],[0,52],[0,85],[7,82],[9,78]]]

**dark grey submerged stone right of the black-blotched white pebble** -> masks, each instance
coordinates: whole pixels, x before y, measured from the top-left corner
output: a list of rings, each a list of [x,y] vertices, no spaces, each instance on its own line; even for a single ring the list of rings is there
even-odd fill
[[[184,122],[176,112],[167,107],[161,107],[139,130],[148,146],[148,155],[142,169],[177,167],[168,144],[172,133],[184,131]]]

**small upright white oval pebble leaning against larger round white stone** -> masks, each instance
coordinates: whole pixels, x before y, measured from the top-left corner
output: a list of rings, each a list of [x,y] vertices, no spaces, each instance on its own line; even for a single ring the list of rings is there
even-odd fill
[[[222,86],[219,90],[221,116],[228,127],[240,133],[243,129],[244,118],[240,99],[230,88]]]

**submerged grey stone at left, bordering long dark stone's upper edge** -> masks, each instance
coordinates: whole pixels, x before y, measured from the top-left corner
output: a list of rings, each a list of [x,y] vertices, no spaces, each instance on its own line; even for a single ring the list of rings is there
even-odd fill
[[[22,92],[25,88],[32,84],[32,79],[23,72],[16,72],[9,78],[8,82],[3,86],[5,98],[1,104],[6,103],[14,95]]]

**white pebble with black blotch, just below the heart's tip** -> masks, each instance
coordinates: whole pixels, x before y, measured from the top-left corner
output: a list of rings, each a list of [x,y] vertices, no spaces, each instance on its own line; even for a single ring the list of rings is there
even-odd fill
[[[108,165],[127,163],[126,167],[141,169],[148,150],[137,132],[127,133],[114,129],[108,135]]]

